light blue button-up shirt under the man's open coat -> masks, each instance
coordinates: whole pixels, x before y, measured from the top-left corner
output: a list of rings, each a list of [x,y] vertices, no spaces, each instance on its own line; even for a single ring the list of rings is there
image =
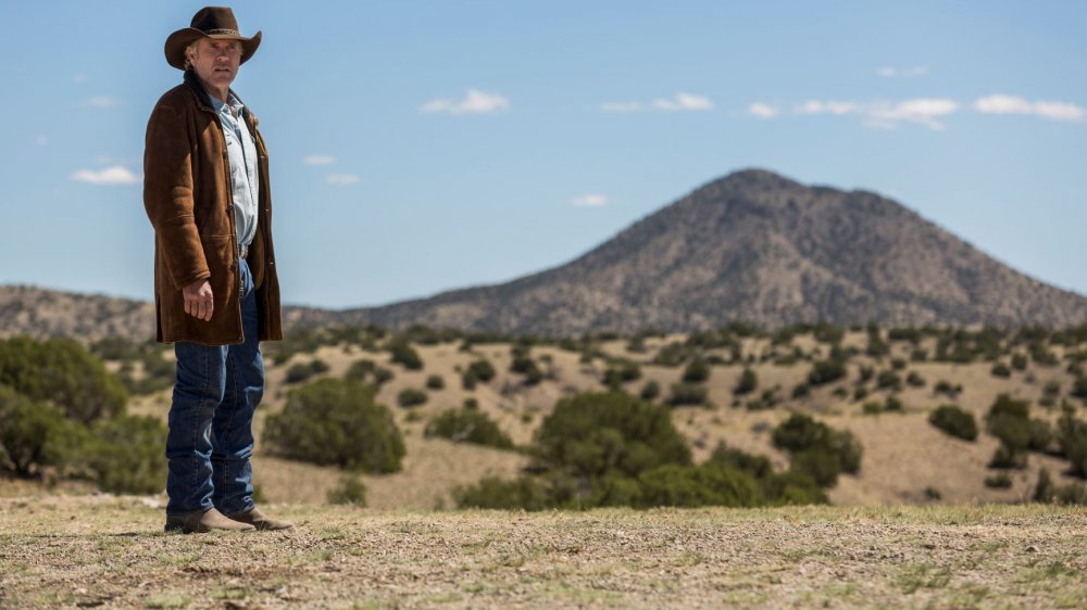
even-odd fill
[[[245,250],[257,236],[257,198],[260,185],[257,178],[257,140],[249,132],[242,118],[245,107],[232,91],[229,103],[223,103],[209,96],[218,113],[226,136],[226,152],[230,161],[230,182],[234,186],[234,230],[237,231],[238,247]]]

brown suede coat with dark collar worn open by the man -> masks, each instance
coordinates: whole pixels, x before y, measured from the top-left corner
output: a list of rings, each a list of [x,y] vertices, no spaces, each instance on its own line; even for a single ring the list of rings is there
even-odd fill
[[[283,339],[279,280],[272,247],[268,157],[257,118],[246,111],[257,138],[260,180],[257,237],[246,262],[257,287],[261,341]],[[191,72],[151,111],[143,152],[143,207],[154,226],[154,305],[160,343],[204,345],[243,342],[234,230],[233,189],[223,128],[211,99]],[[210,321],[185,313],[182,289],[208,279],[214,294]]]

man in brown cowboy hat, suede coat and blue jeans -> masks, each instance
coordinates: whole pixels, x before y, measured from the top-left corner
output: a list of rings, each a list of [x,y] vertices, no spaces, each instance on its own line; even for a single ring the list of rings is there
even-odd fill
[[[283,339],[272,247],[267,149],[230,90],[261,33],[209,7],[166,39],[184,82],[147,126],[143,206],[154,226],[158,340],[174,343],[166,439],[166,531],[285,530],[253,504],[253,411],[264,393],[260,341]]]

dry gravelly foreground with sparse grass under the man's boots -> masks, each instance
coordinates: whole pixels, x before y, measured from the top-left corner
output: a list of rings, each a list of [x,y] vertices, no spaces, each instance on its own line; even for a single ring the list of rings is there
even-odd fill
[[[150,500],[0,500],[0,607],[1084,608],[1087,510],[380,512],[164,535]]]

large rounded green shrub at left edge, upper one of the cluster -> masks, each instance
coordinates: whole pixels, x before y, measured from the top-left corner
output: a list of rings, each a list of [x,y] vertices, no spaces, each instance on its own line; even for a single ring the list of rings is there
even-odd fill
[[[121,414],[128,399],[101,360],[66,339],[0,340],[0,384],[32,401],[50,401],[80,423]]]

